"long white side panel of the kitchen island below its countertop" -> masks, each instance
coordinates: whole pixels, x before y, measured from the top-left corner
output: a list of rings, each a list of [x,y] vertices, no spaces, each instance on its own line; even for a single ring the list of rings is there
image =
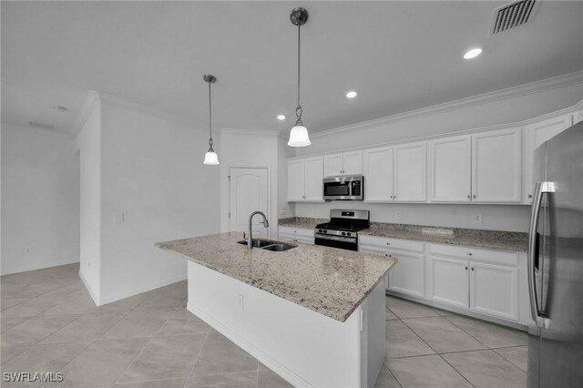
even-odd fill
[[[338,322],[189,261],[187,308],[295,386],[374,383],[366,383],[361,360],[367,354],[361,307]],[[384,330],[380,335],[384,341]]]

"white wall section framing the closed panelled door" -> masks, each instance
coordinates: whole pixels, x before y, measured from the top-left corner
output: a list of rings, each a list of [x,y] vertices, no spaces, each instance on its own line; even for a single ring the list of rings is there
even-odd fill
[[[223,129],[217,148],[220,160],[220,230],[229,230],[230,168],[269,168],[270,233],[276,232],[278,219],[279,155],[277,132]]]

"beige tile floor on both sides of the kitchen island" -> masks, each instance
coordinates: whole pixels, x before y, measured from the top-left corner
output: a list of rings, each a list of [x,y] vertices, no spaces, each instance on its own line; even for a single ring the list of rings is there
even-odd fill
[[[186,281],[101,307],[75,264],[0,284],[3,373],[63,373],[43,387],[290,386],[186,310]],[[395,298],[386,305],[377,387],[526,386],[526,333]]]

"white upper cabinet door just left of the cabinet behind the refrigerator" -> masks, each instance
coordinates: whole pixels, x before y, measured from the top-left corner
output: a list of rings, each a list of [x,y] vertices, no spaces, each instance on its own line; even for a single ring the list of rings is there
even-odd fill
[[[522,130],[472,135],[472,201],[522,201]]]

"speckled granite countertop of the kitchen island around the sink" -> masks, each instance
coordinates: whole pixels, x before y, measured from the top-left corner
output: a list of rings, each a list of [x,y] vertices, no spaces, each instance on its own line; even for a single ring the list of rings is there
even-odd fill
[[[220,233],[156,245],[340,322],[348,319],[397,261],[302,243],[281,252],[248,250],[237,243],[240,236],[240,232]]]

